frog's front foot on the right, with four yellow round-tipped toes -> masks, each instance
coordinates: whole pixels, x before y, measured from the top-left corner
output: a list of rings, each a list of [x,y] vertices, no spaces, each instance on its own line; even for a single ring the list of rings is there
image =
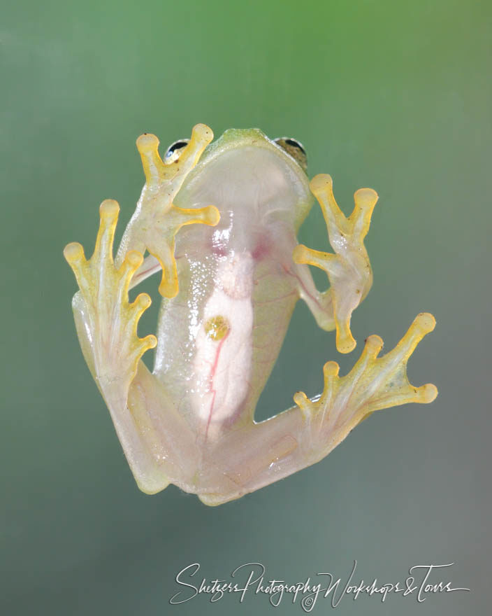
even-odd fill
[[[315,176],[310,182],[310,188],[321,206],[335,253],[314,251],[302,244],[296,246],[294,262],[303,264],[298,266],[299,294],[321,328],[336,329],[338,351],[349,353],[356,346],[350,331],[352,312],[366,297],[372,285],[372,269],[363,240],[369,230],[377,193],[370,188],[357,190],[354,195],[354,211],[346,218],[333,196],[331,176]],[[304,264],[323,269],[330,281],[330,288],[319,293]]]

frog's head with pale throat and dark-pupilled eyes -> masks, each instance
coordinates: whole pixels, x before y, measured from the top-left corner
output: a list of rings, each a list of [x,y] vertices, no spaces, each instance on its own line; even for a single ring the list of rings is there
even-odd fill
[[[175,141],[164,160],[176,160],[185,146],[187,140]],[[229,129],[205,149],[175,204],[189,208],[206,202],[221,216],[233,211],[240,218],[259,211],[289,221],[297,232],[314,202],[305,170],[298,141],[269,139],[257,128]]]

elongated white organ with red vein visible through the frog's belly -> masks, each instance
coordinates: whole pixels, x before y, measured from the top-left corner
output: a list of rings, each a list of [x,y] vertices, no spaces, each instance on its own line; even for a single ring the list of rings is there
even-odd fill
[[[217,286],[203,310],[196,336],[192,406],[205,424],[205,440],[215,439],[246,397],[252,361],[253,269],[251,253],[219,263]]]

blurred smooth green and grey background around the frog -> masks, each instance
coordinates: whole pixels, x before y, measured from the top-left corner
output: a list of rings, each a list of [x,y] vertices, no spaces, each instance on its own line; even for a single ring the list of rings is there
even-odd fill
[[[491,13],[477,0],[3,6],[3,614],[270,614],[252,594],[169,605],[174,577],[198,562],[199,575],[229,580],[255,561],[267,578],[345,580],[354,559],[355,580],[379,582],[455,563],[433,581],[472,591],[345,598],[340,614],[486,612]],[[321,463],[217,508],[174,486],[138,491],[80,353],[61,255],[73,240],[90,252],[106,197],[122,206],[121,235],[143,183],[139,134],[165,147],[197,122],[301,140],[310,175],[333,176],[346,213],[357,188],[380,196],[356,351],[336,353],[299,304],[259,418],[297,389],[318,393],[325,360],[349,370],[367,335],[391,348],[419,311],[437,318],[409,365],[410,381],[439,388],[432,405],[375,414]],[[317,207],[301,241],[328,249]],[[303,613],[289,597],[280,609]],[[313,613],[331,610],[319,601]]]

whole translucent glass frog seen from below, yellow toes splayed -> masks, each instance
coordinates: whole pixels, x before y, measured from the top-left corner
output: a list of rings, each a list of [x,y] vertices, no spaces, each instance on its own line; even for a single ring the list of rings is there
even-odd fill
[[[140,136],[145,186],[115,258],[113,200],[99,209],[92,258],[76,243],[64,255],[80,288],[73,313],[82,352],[138,486],[155,493],[173,483],[219,505],[321,460],[375,410],[431,402],[437,389],[412,386],[406,374],[435,325],[422,313],[388,353],[380,356],[382,339],[370,335],[349,374],[324,365],[321,395],[298,392],[290,409],[254,421],[299,298],[319,327],[336,331],[338,351],[356,346],[350,321],[372,283],[363,241],[377,194],[357,190],[346,217],[330,176],[308,181],[293,139],[228,130],[211,141],[210,128],[196,125],[162,160],[157,137]],[[313,195],[333,253],[296,239]],[[328,290],[317,290],[308,265],[326,272]],[[128,292],[160,271],[157,337],[140,338],[150,297],[130,302]],[[154,346],[150,372],[141,357]]]

